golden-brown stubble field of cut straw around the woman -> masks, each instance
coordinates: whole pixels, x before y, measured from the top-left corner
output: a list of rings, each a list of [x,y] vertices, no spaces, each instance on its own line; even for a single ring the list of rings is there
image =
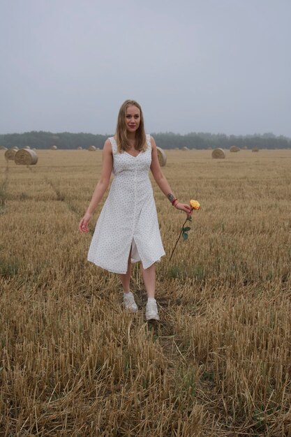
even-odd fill
[[[0,151],[0,435],[291,436],[291,150],[167,151],[172,190],[202,209],[169,262],[184,213],[153,183],[160,324],[137,265],[131,315],[87,262],[102,152],[37,153]]]

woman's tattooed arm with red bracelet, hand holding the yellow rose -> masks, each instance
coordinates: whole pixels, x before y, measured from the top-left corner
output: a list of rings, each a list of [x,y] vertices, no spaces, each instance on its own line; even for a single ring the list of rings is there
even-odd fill
[[[158,151],[156,149],[156,142],[152,137],[151,137],[151,172],[154,176],[156,183],[158,184],[158,187],[167,196],[170,202],[172,202],[175,199],[175,196],[170,188],[169,183],[167,182],[167,179],[165,178],[165,175],[161,170],[160,163],[158,162]],[[186,203],[180,203],[177,200],[176,202],[174,202],[174,207],[177,209],[181,209],[182,211],[185,211],[187,214],[191,214],[192,212],[190,205],[187,205]]]

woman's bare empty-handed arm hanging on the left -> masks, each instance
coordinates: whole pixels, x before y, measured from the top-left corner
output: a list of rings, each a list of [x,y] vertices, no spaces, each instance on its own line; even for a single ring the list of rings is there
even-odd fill
[[[91,217],[96,207],[98,206],[98,203],[103,198],[103,195],[107,190],[110,182],[110,176],[112,173],[112,165],[112,147],[110,140],[106,140],[103,147],[103,159],[100,179],[92,195],[91,202],[89,203],[89,207],[87,208],[87,212],[79,223],[79,230],[81,232],[89,232],[88,223],[91,220]]]

